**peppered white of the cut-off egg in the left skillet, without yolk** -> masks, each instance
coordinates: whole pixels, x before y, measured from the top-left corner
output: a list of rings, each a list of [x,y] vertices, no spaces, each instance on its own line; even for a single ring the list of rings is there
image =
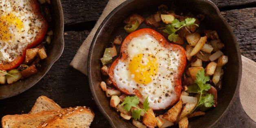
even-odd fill
[[[42,28],[42,22],[38,19],[38,15],[33,13],[29,1],[0,1],[0,18],[9,14],[15,15],[23,24],[21,30],[17,29],[15,24],[8,26],[12,38],[10,40],[0,40],[0,63],[15,60],[15,57],[22,54],[22,51],[33,42],[37,33]]]

